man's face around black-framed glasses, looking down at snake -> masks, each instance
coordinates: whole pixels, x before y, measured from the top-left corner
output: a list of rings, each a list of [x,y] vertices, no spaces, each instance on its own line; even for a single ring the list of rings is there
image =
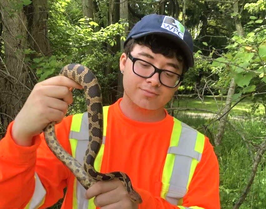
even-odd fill
[[[150,48],[138,44],[133,47],[131,55],[150,62],[159,69],[182,74],[183,64],[176,57],[168,58],[162,54],[155,54]],[[127,58],[125,53],[120,57],[120,70],[123,71],[123,99],[144,109],[157,110],[163,108],[179,86],[169,88],[160,84],[158,73],[149,78],[136,75],[133,72],[133,62]]]

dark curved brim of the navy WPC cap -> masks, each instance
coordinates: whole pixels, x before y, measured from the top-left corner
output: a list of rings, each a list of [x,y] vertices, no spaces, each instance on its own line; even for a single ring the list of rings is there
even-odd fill
[[[173,35],[171,33],[162,32],[162,31],[150,31],[150,32],[139,33],[137,35],[132,35],[131,38],[140,38],[140,37],[151,35],[151,34],[158,34],[158,35],[167,37],[170,40],[172,40],[174,43],[176,43],[178,48],[180,48],[183,51],[183,53],[184,53],[183,57],[186,60],[187,67],[193,67],[194,59],[193,59],[193,53],[191,52],[190,47],[181,38],[177,38],[177,36],[175,36],[175,35]]]

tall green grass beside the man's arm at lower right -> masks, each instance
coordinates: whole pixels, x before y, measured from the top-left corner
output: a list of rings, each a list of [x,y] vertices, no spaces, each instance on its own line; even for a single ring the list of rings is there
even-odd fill
[[[179,114],[177,118],[189,126],[198,129],[200,132],[206,134],[210,142],[213,142],[213,135],[217,132],[217,123],[209,127],[209,131],[204,132],[203,124],[208,124],[207,118],[202,116],[192,117],[190,114]],[[256,138],[265,136],[265,121],[255,119],[247,120],[231,120],[231,123],[239,132],[243,132],[249,142],[255,144],[261,143],[262,139]],[[244,129],[243,129],[244,127]],[[212,134],[210,134],[212,132]],[[243,189],[246,186],[250,177],[252,168],[252,157],[256,152],[253,146],[243,141],[240,135],[231,129],[229,125],[226,127],[226,132],[223,137],[222,144],[214,148],[219,162],[220,173],[220,202],[221,208],[232,209],[238,198],[242,195]],[[251,153],[252,156],[251,156]],[[263,158],[258,166],[258,172],[255,176],[251,191],[245,202],[240,207],[244,208],[264,208],[266,202],[266,161]]]

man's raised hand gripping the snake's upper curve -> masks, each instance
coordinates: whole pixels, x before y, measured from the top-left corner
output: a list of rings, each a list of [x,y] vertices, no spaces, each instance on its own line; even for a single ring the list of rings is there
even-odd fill
[[[34,86],[12,127],[12,136],[18,145],[30,146],[32,138],[48,123],[63,120],[73,101],[70,88],[81,89],[82,86],[64,76],[51,77]]]

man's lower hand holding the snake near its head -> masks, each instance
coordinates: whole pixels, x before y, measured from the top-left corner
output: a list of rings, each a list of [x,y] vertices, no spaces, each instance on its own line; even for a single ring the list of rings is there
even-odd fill
[[[137,209],[123,183],[117,179],[108,182],[97,182],[86,192],[87,199],[95,197],[94,204],[101,209]]]

